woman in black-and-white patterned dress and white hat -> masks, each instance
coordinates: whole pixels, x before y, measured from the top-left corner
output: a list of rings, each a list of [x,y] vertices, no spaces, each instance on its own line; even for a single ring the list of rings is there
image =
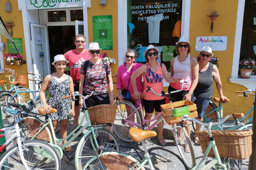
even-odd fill
[[[40,89],[39,95],[43,102],[44,111],[46,113],[50,112],[50,108],[57,109],[58,112],[49,114],[52,119],[52,124],[54,131],[58,125],[58,120],[60,120],[60,135],[61,138],[67,137],[67,124],[69,121],[69,114],[75,116],[75,101],[70,101],[70,99],[62,99],[64,96],[73,95],[73,80],[72,78],[65,74],[68,61],[66,61],[64,55],[59,54],[54,57],[54,65],[56,72],[50,75],[46,75],[44,82]],[[46,101],[45,91],[48,90],[49,99]],[[64,145],[67,140],[62,141]],[[71,152],[72,148],[67,146],[64,151]]]

